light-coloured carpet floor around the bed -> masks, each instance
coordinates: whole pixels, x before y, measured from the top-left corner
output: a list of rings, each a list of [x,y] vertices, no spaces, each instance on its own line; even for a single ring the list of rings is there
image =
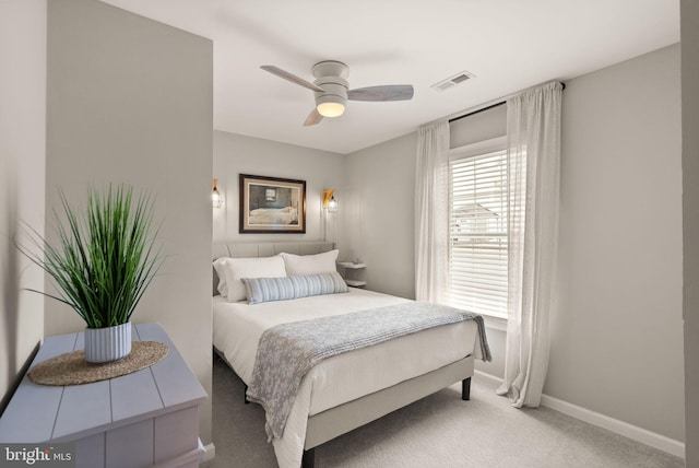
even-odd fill
[[[471,401],[453,385],[316,449],[317,468],[679,468],[684,460],[548,408],[518,410],[474,377]],[[213,442],[203,468],[275,468],[264,412],[216,359]]]

